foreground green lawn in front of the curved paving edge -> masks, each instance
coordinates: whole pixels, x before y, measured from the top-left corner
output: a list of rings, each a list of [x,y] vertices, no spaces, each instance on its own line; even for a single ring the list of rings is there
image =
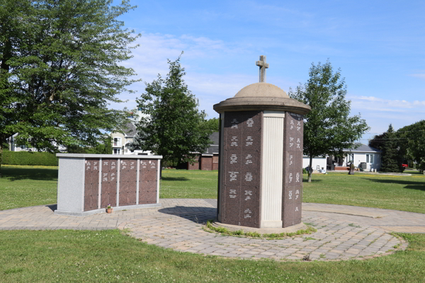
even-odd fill
[[[0,231],[0,282],[424,282],[425,235],[373,260],[232,260],[107,231]]]

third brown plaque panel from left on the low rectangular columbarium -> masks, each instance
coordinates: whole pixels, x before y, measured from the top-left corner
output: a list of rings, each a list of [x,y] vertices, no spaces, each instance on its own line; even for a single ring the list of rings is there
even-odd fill
[[[137,204],[137,160],[120,161],[120,206]]]

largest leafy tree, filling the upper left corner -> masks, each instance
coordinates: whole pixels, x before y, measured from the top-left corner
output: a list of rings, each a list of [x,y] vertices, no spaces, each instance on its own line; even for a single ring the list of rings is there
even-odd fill
[[[112,2],[0,0],[0,140],[56,151],[125,122],[107,106],[134,82],[119,64],[137,36],[117,18],[135,7]]]

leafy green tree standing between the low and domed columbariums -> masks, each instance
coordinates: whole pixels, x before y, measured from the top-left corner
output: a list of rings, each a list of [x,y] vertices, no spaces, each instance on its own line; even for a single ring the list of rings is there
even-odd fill
[[[140,149],[163,156],[164,163],[194,162],[191,152],[203,152],[210,145],[210,129],[203,127],[205,113],[183,80],[180,57],[169,60],[169,74],[147,83],[137,99],[142,116],[137,125]],[[135,147],[132,147],[135,148]]]

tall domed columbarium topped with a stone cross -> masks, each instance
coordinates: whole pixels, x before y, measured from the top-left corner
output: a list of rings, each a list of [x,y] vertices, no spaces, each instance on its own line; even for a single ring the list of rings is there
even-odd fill
[[[266,57],[256,62],[259,83],[214,105],[220,113],[217,220],[254,228],[301,223],[303,115],[310,106],[266,83]]]

